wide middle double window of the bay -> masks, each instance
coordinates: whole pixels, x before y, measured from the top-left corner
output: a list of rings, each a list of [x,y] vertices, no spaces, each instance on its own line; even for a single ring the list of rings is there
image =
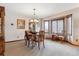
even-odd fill
[[[63,34],[63,19],[52,21],[52,33]]]

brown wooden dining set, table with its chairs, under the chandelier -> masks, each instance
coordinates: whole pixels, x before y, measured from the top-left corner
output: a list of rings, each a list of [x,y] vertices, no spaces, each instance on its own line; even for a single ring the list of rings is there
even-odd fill
[[[26,31],[25,37],[26,38],[28,37],[28,42],[31,43],[32,48],[34,48],[36,46],[36,44],[38,44],[38,48],[40,49],[40,42],[42,42],[43,47],[45,47],[44,46],[44,33],[45,33],[44,31],[39,31],[39,32]],[[30,46],[30,43],[28,44],[29,46]]]

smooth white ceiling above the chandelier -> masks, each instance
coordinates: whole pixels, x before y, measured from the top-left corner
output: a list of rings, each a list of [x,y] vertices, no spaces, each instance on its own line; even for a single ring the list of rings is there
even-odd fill
[[[21,13],[27,17],[33,17],[33,9],[36,9],[38,18],[44,18],[79,6],[77,3],[5,3],[8,10]]]

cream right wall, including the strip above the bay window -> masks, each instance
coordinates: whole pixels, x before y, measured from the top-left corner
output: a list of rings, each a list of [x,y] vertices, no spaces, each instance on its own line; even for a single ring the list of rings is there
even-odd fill
[[[68,14],[72,14],[72,36],[70,42],[75,45],[79,45],[79,8],[67,10],[50,17],[46,17],[43,20],[52,20],[54,18],[62,17]]]

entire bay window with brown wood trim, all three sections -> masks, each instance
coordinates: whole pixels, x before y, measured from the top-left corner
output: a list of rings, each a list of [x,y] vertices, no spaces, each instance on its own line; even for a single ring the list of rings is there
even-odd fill
[[[46,20],[44,22],[44,30],[57,35],[72,35],[72,15],[62,16],[49,21]]]

